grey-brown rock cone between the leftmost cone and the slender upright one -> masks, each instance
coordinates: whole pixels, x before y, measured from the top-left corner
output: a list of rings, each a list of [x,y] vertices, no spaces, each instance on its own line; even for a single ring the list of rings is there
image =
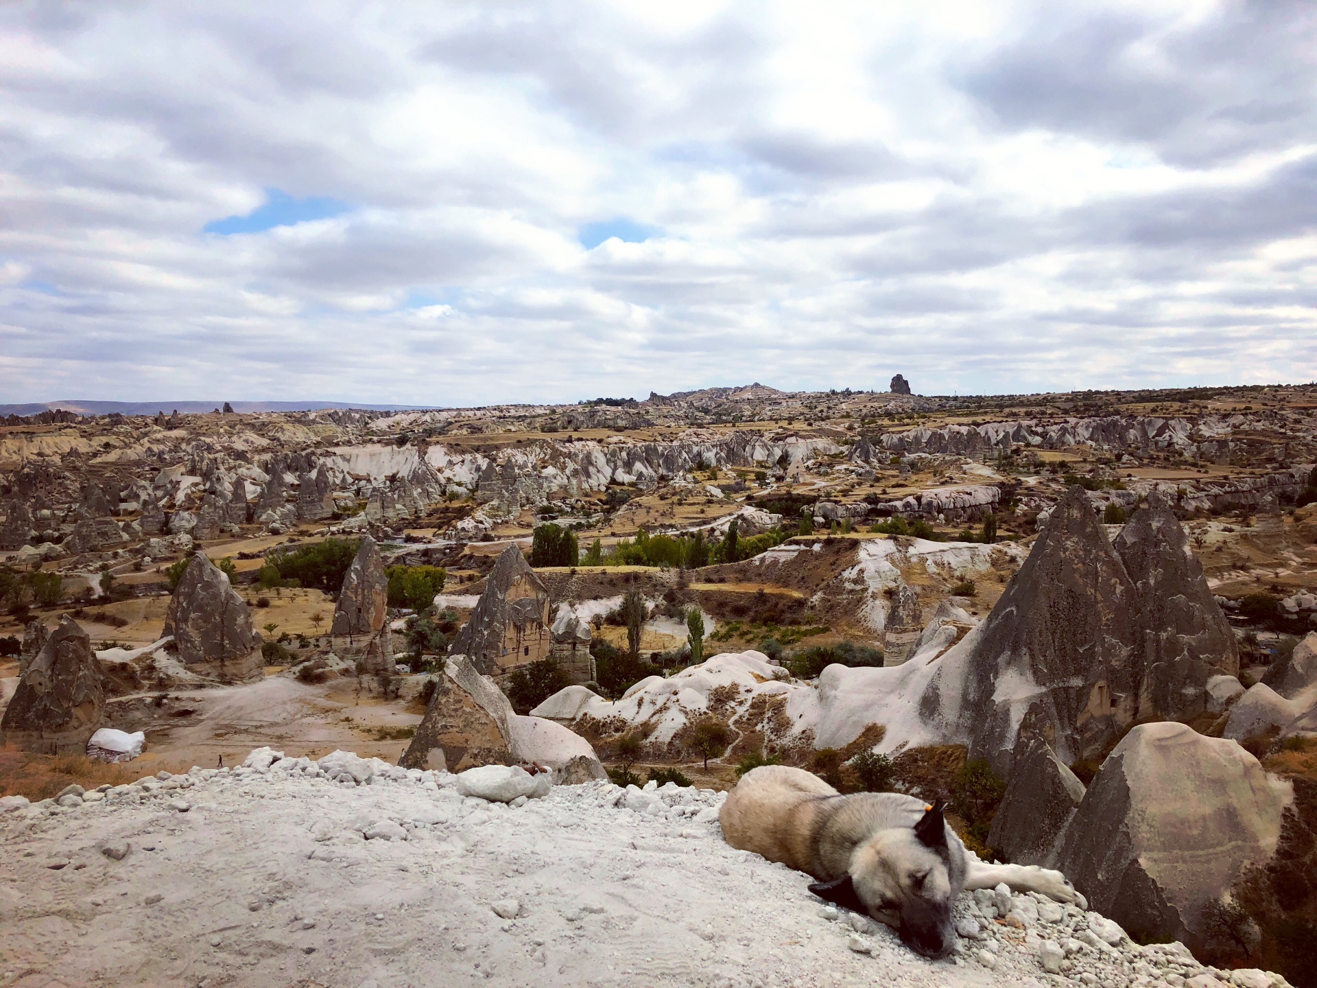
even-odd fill
[[[203,667],[224,682],[261,676],[261,636],[252,627],[252,611],[224,570],[202,552],[192,555],[174,590],[163,634],[174,636],[184,665]]]

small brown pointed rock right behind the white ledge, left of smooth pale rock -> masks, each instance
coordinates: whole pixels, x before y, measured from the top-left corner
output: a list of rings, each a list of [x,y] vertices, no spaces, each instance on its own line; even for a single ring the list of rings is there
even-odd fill
[[[425,717],[398,764],[449,772],[511,764],[508,718],[512,715],[512,705],[499,688],[481,676],[469,657],[454,655],[445,664]]]

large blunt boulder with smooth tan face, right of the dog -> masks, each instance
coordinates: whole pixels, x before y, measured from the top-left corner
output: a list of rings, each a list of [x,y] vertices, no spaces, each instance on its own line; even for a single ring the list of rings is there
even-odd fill
[[[1271,858],[1288,798],[1234,742],[1141,725],[1088,786],[1058,867],[1131,937],[1197,950],[1202,906]]]

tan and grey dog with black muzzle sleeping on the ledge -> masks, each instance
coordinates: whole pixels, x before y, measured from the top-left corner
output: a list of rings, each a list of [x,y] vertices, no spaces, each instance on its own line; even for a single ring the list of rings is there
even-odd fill
[[[901,793],[842,796],[818,776],[786,765],[747,772],[719,811],[723,837],[818,879],[810,891],[897,927],[930,958],[955,943],[951,905],[964,889],[1005,881],[1062,902],[1079,894],[1059,871],[984,864],[942,815]]]

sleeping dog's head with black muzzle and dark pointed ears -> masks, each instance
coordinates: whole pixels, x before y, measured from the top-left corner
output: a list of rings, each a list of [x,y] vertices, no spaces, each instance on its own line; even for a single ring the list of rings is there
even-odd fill
[[[835,881],[810,885],[830,902],[896,926],[911,950],[942,958],[956,942],[951,904],[964,885],[964,864],[947,846],[939,800],[914,827],[880,830],[851,856]]]

